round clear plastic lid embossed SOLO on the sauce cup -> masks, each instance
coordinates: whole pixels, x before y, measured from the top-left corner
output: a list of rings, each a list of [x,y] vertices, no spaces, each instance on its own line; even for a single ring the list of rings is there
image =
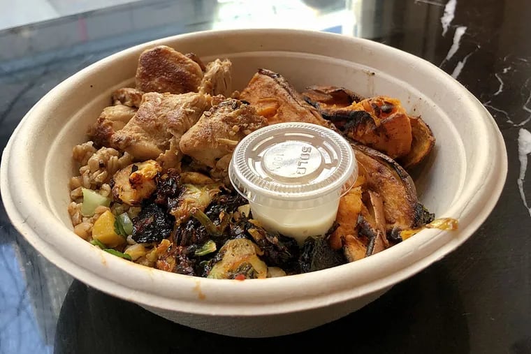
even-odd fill
[[[326,202],[349,191],[358,165],[349,142],[335,131],[289,122],[247,135],[233,152],[228,174],[242,196],[262,205]]]

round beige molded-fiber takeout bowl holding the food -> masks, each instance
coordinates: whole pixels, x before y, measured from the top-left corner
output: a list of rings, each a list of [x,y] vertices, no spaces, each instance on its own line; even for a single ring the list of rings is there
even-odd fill
[[[390,249],[319,272],[246,281],[203,279],[127,262],[73,233],[67,205],[72,147],[133,84],[138,56],[154,45],[233,61],[233,87],[257,68],[281,73],[296,89],[333,84],[363,96],[396,97],[437,138],[414,171],[419,200],[459,229],[425,229]],[[238,337],[300,332],[345,316],[465,242],[492,211],[507,174],[494,119],[469,91],[423,59],[370,40],[313,31],[207,31],[156,40],[98,61],[44,96],[3,152],[1,193],[13,225],[43,256],[105,293],[189,327]]]

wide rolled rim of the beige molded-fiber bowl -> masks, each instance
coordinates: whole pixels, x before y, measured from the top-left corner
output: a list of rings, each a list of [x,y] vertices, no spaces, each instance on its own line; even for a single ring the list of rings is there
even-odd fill
[[[468,212],[451,215],[458,219],[464,215],[463,221],[467,222],[460,223],[460,229],[453,233],[442,230],[423,230],[416,237],[408,239],[407,242],[402,242],[384,252],[354,263],[347,263],[319,272],[272,279],[249,279],[247,281],[205,279],[163,272],[127,262],[90,246],[92,251],[89,251],[89,256],[92,257],[92,261],[106,265],[109,270],[106,274],[96,274],[96,272],[89,269],[90,264],[83,264],[79,259],[73,259],[73,255],[65,253],[64,249],[61,252],[61,249],[56,248],[57,245],[41,237],[41,235],[54,237],[53,235],[57,233],[57,230],[49,223],[38,223],[38,220],[34,219],[32,215],[54,216],[50,209],[41,203],[31,205],[34,210],[33,214],[27,212],[29,210],[29,201],[23,196],[26,193],[24,189],[28,186],[23,183],[13,183],[17,176],[24,172],[24,164],[17,164],[15,158],[10,158],[12,154],[17,154],[18,156],[27,152],[24,149],[26,145],[25,138],[29,136],[27,132],[31,129],[32,122],[38,119],[38,110],[43,109],[57,92],[74,84],[76,80],[82,80],[84,75],[87,75],[95,68],[102,65],[110,65],[112,61],[120,57],[128,57],[145,47],[171,43],[182,38],[201,40],[210,36],[238,36],[241,34],[251,36],[312,36],[321,40],[337,40],[345,45],[352,43],[362,44],[375,51],[389,52],[403,59],[414,61],[417,66],[431,71],[433,75],[437,75],[439,80],[444,81],[452,89],[459,91],[463,96],[460,104],[467,105],[467,109],[475,112],[475,115],[480,118],[477,120],[482,123],[481,126],[489,135],[488,139],[486,139],[486,145],[490,149],[488,158],[483,158],[483,161],[481,161],[481,167],[483,167],[487,175],[483,177],[481,183],[477,186],[474,185],[474,190],[468,193],[471,199],[465,202],[463,209],[460,210],[463,213],[464,208],[468,207]],[[420,272],[431,263],[445,256],[446,253],[456,249],[481,226],[481,223],[486,220],[495,207],[498,198],[500,198],[506,177],[507,151],[502,134],[497,128],[493,117],[463,85],[428,61],[381,43],[339,34],[300,29],[231,29],[180,34],[142,43],[96,61],[96,63],[58,84],[27,112],[27,115],[24,116],[20,124],[15,128],[13,135],[11,135],[8,145],[4,149],[0,165],[0,192],[4,207],[13,226],[27,241],[52,263],[94,288],[147,307],[191,314],[257,316],[303,311],[344,302],[355,297],[376,293]],[[479,189],[488,189],[488,198],[472,198]],[[470,208],[472,207],[474,207],[473,217],[470,215]],[[70,233],[72,233],[71,230]],[[444,241],[444,244],[425,256],[420,257],[415,254],[414,251],[423,248],[425,242],[432,239],[438,239],[440,242]],[[68,239],[68,242],[63,242],[70,244],[70,241],[71,239]],[[89,246],[88,242],[80,238],[72,243],[78,241]],[[381,267],[382,265],[384,267]],[[381,270],[381,268],[389,270],[393,266],[400,267],[398,267],[398,271],[395,270],[394,272],[382,272]],[[135,268],[139,271],[136,272]],[[123,276],[123,274],[128,274],[132,278],[138,276],[136,280],[143,280],[140,283],[131,285],[127,282],[127,277],[125,279],[118,277],[119,275]],[[147,279],[151,279],[151,281]],[[168,295],[172,288],[174,290],[173,295]]]

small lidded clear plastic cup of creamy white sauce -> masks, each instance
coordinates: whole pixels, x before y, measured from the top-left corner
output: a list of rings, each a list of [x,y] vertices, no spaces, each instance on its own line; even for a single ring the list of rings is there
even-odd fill
[[[290,122],[247,135],[235,148],[228,172],[236,191],[249,200],[254,219],[302,244],[333,225],[358,165],[338,133]]]

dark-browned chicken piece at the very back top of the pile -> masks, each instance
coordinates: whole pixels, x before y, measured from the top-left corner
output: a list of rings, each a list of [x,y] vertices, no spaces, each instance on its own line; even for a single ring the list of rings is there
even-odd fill
[[[136,88],[144,92],[184,94],[197,92],[203,71],[196,61],[166,45],[140,54]]]

